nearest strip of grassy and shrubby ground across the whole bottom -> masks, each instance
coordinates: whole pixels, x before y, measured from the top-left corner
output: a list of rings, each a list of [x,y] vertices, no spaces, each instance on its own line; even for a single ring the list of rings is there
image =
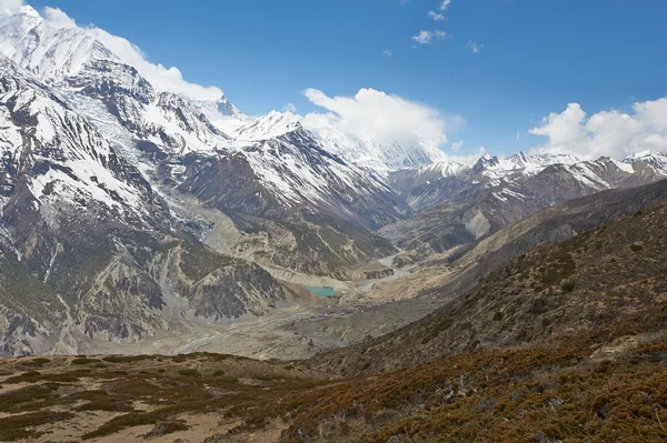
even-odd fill
[[[660,442],[667,306],[509,350],[328,380],[228,355],[0,363],[0,440]]]

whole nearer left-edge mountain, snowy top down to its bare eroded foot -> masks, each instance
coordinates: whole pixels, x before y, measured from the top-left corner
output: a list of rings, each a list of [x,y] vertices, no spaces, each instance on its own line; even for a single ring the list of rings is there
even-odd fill
[[[0,355],[178,333],[171,312],[261,315],[289,298],[179,234],[141,172],[52,88],[1,54],[0,72]]]

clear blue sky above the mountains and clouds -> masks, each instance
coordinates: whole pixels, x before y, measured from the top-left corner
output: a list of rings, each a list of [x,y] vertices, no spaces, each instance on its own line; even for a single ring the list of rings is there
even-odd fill
[[[528,150],[541,138],[527,132],[570,102],[630,112],[667,95],[664,0],[452,0],[444,11],[442,0],[28,2],[127,38],[247,113],[313,111],[307,88],[426,103],[465,119],[447,132],[465,141],[459,153]],[[419,44],[420,31],[448,36]]]

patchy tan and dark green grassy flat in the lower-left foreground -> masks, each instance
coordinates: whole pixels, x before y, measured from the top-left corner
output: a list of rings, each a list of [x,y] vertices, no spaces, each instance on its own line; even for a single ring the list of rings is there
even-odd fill
[[[0,420],[0,440],[48,441],[44,424],[60,422],[59,427],[78,427],[77,423],[90,412],[108,419],[101,425],[78,431],[82,440],[141,425],[153,426],[147,437],[159,437],[188,430],[183,414],[246,414],[286,392],[301,392],[319,383],[296,366],[285,369],[230,355],[43,360],[39,364],[48,370],[40,368],[39,372],[28,371],[2,381],[12,390],[0,394],[0,413],[11,414]],[[0,369],[23,368],[28,361],[0,361]],[[100,361],[108,364],[99,365]],[[84,368],[74,371],[72,365]],[[252,382],[245,383],[241,377]]]

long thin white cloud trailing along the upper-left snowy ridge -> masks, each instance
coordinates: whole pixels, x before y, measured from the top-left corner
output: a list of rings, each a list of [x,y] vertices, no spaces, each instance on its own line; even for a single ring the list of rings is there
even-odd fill
[[[10,3],[20,1],[0,0],[0,10]],[[139,71],[139,73],[159,90],[178,92],[197,100],[216,100],[222,95],[222,91],[216,87],[201,87],[190,83],[183,79],[178,68],[166,68],[160,63],[151,63],[143,52],[130,41],[122,37],[113,36],[94,26],[79,27],[76,21],[58,8],[44,8],[43,18],[57,28],[80,28],[92,38],[99,40],[123,63]]]

